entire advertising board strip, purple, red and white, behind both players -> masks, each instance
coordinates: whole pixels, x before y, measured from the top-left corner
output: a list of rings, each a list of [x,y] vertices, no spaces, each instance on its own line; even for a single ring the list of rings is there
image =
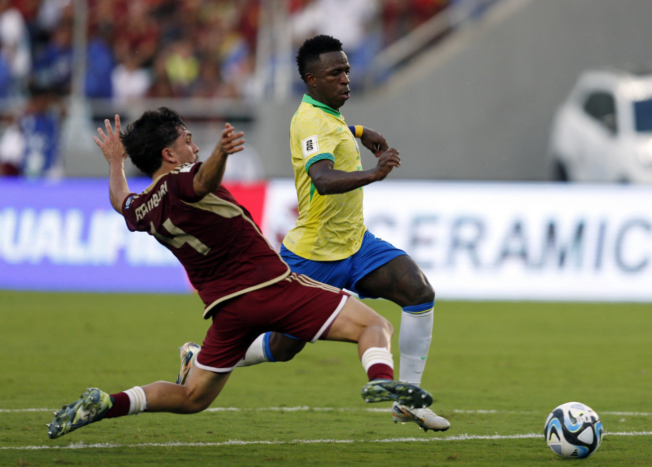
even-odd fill
[[[293,182],[229,188],[280,247],[297,217]],[[652,303],[651,186],[385,180],[364,188],[364,208],[439,299]],[[168,250],[128,232],[104,179],[0,181],[0,288],[192,289]]]

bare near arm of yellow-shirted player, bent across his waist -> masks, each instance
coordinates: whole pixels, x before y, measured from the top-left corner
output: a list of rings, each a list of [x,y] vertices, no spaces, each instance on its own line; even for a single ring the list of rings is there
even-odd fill
[[[321,195],[346,193],[385,179],[394,167],[401,165],[398,151],[393,147],[378,156],[378,164],[373,169],[345,172],[335,170],[332,160],[318,160],[308,169],[313,185]]]

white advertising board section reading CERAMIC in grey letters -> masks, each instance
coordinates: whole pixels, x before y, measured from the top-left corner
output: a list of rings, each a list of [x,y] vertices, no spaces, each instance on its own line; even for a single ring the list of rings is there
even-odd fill
[[[276,247],[296,208],[292,181],[272,181]],[[364,187],[364,217],[439,299],[652,301],[652,187],[386,180]]]

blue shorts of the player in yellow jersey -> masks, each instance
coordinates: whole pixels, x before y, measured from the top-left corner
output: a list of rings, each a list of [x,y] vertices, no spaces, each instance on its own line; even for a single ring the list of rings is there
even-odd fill
[[[304,274],[319,280],[319,282],[350,290],[358,294],[360,298],[378,298],[360,294],[355,289],[355,283],[396,256],[407,253],[394,247],[391,243],[379,239],[367,230],[364,232],[360,249],[344,260],[306,260],[288,250],[284,245],[281,245],[280,254],[293,273]]]

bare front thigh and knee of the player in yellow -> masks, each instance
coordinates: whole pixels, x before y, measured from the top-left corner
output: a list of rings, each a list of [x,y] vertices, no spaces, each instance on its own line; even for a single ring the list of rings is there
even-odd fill
[[[396,256],[377,267],[355,284],[364,296],[393,301],[400,307],[419,305],[435,299],[435,292],[421,267],[407,254]]]

